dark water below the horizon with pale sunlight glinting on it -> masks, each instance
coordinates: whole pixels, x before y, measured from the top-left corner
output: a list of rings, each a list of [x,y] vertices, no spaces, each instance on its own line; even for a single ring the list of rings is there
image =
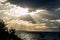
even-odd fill
[[[59,32],[16,32],[23,40],[60,40]]]

